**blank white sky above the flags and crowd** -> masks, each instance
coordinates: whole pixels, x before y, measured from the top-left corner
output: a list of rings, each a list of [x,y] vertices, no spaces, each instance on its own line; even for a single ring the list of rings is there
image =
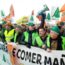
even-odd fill
[[[9,14],[11,4],[14,6],[15,19],[17,20],[21,16],[31,15],[31,11],[34,10],[35,14],[43,8],[44,4],[47,4],[49,9],[52,7],[62,7],[65,0],[0,0],[0,10],[4,10],[5,14]]]

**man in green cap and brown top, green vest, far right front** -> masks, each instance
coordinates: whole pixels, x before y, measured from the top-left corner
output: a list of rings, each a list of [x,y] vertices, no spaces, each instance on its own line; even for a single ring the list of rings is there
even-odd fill
[[[65,41],[60,34],[58,26],[53,26],[50,30],[50,35],[47,37],[46,45],[47,51],[50,50],[64,50]]]

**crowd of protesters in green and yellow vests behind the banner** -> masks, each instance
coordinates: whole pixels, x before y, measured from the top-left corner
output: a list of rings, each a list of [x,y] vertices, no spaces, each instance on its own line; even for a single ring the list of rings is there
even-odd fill
[[[39,47],[47,51],[65,50],[65,23],[60,25],[41,27],[29,22],[18,25],[7,23],[0,24],[0,41],[4,44],[15,44]]]

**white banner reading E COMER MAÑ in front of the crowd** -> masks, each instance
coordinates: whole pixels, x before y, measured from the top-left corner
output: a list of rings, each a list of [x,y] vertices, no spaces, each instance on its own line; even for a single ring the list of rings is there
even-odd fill
[[[37,47],[17,45],[13,48],[15,65],[65,65],[65,51],[47,52]]]

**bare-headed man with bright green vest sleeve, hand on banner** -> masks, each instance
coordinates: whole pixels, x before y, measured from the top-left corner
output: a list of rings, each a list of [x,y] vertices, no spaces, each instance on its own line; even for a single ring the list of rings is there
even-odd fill
[[[39,35],[35,39],[35,46],[46,49],[46,38],[47,38],[47,31],[44,28],[39,28]]]

